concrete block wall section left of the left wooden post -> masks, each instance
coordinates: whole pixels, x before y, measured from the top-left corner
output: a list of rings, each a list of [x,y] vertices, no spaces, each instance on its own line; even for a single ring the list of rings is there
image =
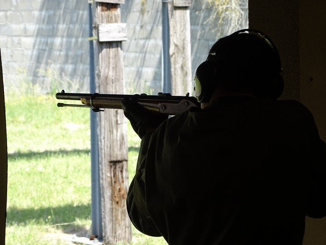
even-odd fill
[[[41,92],[87,89],[87,1],[1,0],[0,6],[6,92],[26,92],[35,85]]]

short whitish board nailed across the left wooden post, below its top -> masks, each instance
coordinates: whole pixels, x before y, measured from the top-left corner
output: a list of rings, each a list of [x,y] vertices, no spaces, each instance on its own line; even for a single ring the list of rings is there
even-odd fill
[[[126,23],[99,23],[98,40],[100,42],[126,41]]]

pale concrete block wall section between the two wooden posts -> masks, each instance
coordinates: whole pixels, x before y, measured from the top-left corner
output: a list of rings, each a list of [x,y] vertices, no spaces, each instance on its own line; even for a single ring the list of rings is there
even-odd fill
[[[128,40],[122,43],[127,93],[156,94],[161,90],[161,1],[125,1],[121,21]]]

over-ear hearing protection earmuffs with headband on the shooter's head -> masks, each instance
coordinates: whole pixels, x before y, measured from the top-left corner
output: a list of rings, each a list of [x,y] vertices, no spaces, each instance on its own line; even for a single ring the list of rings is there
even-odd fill
[[[255,35],[258,37],[258,40],[261,40],[261,45],[271,54],[270,62],[271,67],[268,68],[268,77],[259,77],[259,89],[257,96],[259,97],[273,97],[274,99],[278,99],[284,90],[284,81],[282,78],[282,64],[279,53],[273,41],[264,33],[254,30],[254,29],[242,29],[232,33],[231,35],[225,37],[225,40],[219,40],[216,42],[216,51],[214,49],[215,44],[211,49],[211,53],[209,53],[206,61],[201,63],[195,75],[195,96],[198,102],[209,102],[210,97],[219,83],[218,74],[219,72],[228,72],[221,67],[225,66],[226,55],[223,54],[224,47],[228,43],[230,38],[233,38],[236,35],[243,35],[243,33],[247,33],[250,35]],[[257,61],[260,62],[260,61]],[[219,70],[221,69],[221,70]],[[229,74],[232,75],[231,72]],[[257,75],[260,76],[260,75]],[[262,84],[263,83],[263,84]]]

